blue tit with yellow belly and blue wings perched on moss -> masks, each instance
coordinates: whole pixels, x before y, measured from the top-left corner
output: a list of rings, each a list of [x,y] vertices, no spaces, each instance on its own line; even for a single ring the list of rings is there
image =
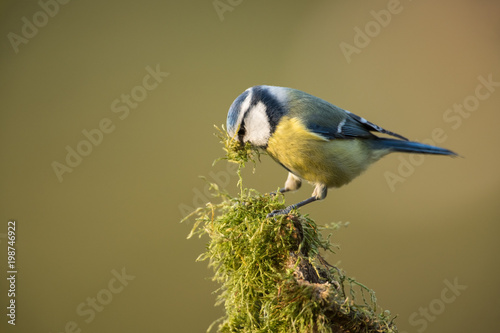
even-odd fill
[[[348,184],[392,152],[456,155],[408,141],[321,98],[284,87],[262,85],[245,90],[229,108],[227,132],[241,143],[264,149],[288,170],[280,192],[298,190],[302,180],[315,185],[310,198],[268,216],[288,214],[324,199],[328,188]]]

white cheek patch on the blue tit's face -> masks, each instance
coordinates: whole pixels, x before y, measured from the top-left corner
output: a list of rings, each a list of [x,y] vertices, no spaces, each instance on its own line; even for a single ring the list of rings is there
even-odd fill
[[[248,111],[245,117],[246,135],[243,141],[249,141],[256,146],[266,146],[271,136],[271,125],[266,113],[266,106],[258,102]]]

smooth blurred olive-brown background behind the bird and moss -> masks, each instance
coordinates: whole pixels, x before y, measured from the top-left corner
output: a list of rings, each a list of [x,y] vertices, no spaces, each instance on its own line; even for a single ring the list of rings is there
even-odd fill
[[[397,14],[377,23],[388,8]],[[219,318],[212,272],[195,262],[207,238],[186,240],[192,221],[179,220],[208,200],[199,175],[236,191],[224,162],[211,166],[223,154],[213,125],[257,84],[307,91],[413,140],[438,129],[463,158],[405,166],[393,154],[302,211],[350,222],[327,258],[373,288],[400,331],[498,326],[500,84],[471,97],[479,77],[500,82],[497,1],[4,0],[0,13],[2,276],[10,219],[18,268],[15,327],[0,280],[2,332],[204,332]],[[36,33],[23,28],[34,20]],[[365,28],[372,37],[355,41]],[[360,47],[346,56],[346,44]],[[464,101],[473,111],[448,113]],[[112,131],[100,138],[103,119]],[[87,156],[59,179],[67,146]],[[387,172],[404,181],[391,188]],[[286,171],[263,157],[245,177],[268,192]]]

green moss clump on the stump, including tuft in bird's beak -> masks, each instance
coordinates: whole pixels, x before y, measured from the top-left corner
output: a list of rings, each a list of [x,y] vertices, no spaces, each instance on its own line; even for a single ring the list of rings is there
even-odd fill
[[[221,131],[223,134],[223,132]],[[226,159],[239,164],[255,156],[221,137]],[[282,195],[262,195],[243,188],[232,197],[211,184],[218,203],[198,208],[189,237],[208,235],[205,253],[221,284],[217,304],[225,316],[211,328],[220,332],[397,332],[388,311],[377,309],[375,294],[329,265],[320,251],[333,252],[330,237],[339,224],[320,227],[308,216],[267,218],[285,207]],[[186,217],[186,219],[189,217]]]

